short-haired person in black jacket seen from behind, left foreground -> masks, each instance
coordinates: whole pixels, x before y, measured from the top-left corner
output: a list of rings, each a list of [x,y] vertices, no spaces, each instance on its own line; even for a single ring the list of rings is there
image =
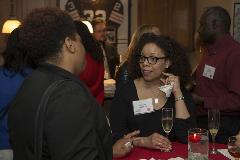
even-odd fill
[[[112,159],[104,112],[78,78],[85,49],[72,18],[60,9],[35,9],[20,36],[38,68],[10,104],[14,159]]]

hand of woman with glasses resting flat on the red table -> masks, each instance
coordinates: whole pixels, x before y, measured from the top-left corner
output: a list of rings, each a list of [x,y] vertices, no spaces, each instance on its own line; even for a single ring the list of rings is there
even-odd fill
[[[133,141],[134,145],[150,149],[169,151],[172,149],[171,142],[164,136],[153,133],[148,137],[138,137]]]

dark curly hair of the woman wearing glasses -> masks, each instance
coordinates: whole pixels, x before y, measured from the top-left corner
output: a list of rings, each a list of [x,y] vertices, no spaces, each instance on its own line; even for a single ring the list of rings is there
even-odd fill
[[[133,54],[129,57],[128,71],[133,79],[142,77],[140,65],[138,63],[143,47],[147,43],[154,43],[164,51],[164,54],[171,62],[166,72],[180,77],[181,86],[185,86],[190,80],[190,65],[186,51],[175,40],[158,36],[152,33],[145,33],[136,45]]]

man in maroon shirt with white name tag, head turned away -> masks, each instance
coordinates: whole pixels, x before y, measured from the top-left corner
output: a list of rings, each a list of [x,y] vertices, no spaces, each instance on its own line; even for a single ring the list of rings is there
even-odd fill
[[[240,44],[229,33],[231,18],[222,7],[208,8],[200,18],[200,41],[205,48],[196,70],[194,98],[198,126],[208,128],[207,110],[220,110],[216,142],[227,143],[240,130]]]

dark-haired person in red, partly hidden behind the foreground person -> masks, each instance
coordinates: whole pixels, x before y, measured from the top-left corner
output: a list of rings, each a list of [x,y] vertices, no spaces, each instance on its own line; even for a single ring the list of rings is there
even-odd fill
[[[104,101],[104,65],[102,50],[84,23],[75,21],[75,25],[86,50],[86,65],[79,77],[88,86],[98,103],[102,105]]]

